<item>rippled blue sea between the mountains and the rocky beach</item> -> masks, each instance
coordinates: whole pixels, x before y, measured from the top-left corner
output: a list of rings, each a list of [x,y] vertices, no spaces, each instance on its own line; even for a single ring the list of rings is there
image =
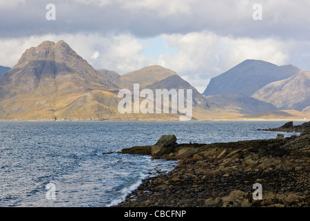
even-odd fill
[[[152,145],[161,135],[177,142],[235,142],[275,138],[257,131],[285,122],[0,122],[0,206],[112,206],[146,177],[176,161],[102,153]],[[294,125],[302,122],[294,122]],[[285,136],[293,133],[285,133]],[[50,189],[48,184],[53,184]],[[50,195],[54,191],[54,195]],[[52,198],[50,197],[52,196]]]

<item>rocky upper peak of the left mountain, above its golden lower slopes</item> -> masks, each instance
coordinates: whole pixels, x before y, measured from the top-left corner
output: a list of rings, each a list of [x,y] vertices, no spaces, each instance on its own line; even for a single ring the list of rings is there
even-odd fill
[[[91,82],[97,86],[114,88],[114,84],[105,75],[98,73],[63,40],[56,44],[53,41],[43,41],[39,46],[25,50],[17,64],[3,74],[0,84],[11,85],[11,89],[12,86],[19,88],[14,93],[6,93],[12,96],[43,88],[44,82],[51,80],[54,88],[74,85],[70,88],[72,92],[87,90]]]

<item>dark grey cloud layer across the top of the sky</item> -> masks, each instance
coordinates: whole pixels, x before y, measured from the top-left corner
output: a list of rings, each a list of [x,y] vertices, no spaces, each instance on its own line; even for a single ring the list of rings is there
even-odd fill
[[[307,1],[262,1],[263,20],[254,21],[251,8],[255,1],[192,1],[189,13],[174,12],[162,15],[166,8],[125,7],[128,1],[110,1],[105,6],[76,1],[25,1],[12,8],[0,9],[0,38],[25,37],[52,33],[78,32],[130,33],[136,37],[154,37],[162,34],[200,32],[209,30],[218,35],[262,38],[276,36],[282,39],[309,39]],[[176,2],[176,1],[174,1]],[[271,3],[273,2],[273,3]],[[278,6],[275,2],[278,2]],[[47,21],[45,6],[56,5],[56,21]],[[285,6],[287,3],[287,6]],[[165,6],[163,6],[165,7]],[[287,7],[287,8],[285,8]]]

